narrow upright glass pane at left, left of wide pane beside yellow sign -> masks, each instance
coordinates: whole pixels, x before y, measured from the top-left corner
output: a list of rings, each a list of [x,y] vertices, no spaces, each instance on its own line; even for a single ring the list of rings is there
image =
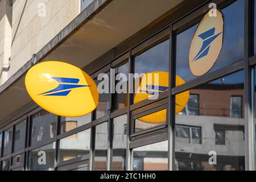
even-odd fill
[[[22,150],[26,140],[26,120],[14,126],[14,152]]]

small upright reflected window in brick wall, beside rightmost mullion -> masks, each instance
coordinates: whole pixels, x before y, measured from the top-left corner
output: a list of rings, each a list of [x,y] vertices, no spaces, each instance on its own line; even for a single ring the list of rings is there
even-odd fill
[[[232,96],[230,98],[230,117],[242,118],[242,96]]]

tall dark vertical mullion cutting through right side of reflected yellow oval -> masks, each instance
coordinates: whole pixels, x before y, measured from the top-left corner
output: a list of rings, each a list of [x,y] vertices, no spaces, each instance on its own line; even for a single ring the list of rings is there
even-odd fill
[[[176,61],[175,61],[175,36],[173,27],[170,26],[170,55],[169,55],[169,90],[167,106],[167,127],[168,127],[168,170],[174,171],[175,166],[175,95],[172,88],[176,84]]]

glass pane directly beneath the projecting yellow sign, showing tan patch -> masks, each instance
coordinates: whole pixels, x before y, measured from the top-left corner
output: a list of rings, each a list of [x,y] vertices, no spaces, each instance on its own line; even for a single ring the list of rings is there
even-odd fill
[[[86,125],[92,119],[92,113],[82,117],[61,117],[61,133],[71,131],[77,127]]]

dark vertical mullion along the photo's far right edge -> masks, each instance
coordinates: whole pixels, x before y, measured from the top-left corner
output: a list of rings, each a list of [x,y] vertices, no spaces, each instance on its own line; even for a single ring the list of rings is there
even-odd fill
[[[254,138],[253,136],[253,117],[252,117],[252,110],[251,110],[251,68],[249,63],[249,57],[252,53],[251,51],[251,38],[252,38],[252,28],[251,28],[251,1],[245,0],[245,37],[244,37],[244,59],[245,59],[245,169],[246,170],[253,170],[255,169],[254,165]]]

